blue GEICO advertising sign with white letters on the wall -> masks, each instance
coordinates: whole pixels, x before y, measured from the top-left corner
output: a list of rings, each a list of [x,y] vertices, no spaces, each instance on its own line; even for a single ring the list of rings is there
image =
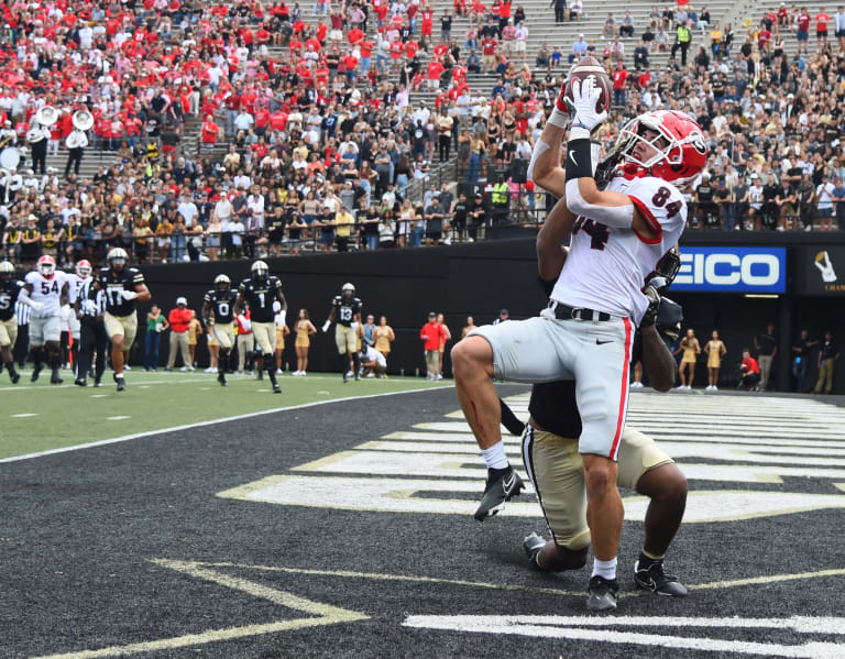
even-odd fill
[[[783,293],[786,248],[681,248],[677,290]]]

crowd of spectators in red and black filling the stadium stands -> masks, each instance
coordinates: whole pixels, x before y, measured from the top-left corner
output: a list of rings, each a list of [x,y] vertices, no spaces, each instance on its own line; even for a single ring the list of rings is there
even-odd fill
[[[425,0],[1,9],[6,143],[26,143],[51,106],[56,153],[74,113],[88,110],[91,149],[114,156],[90,178],[75,174],[78,162],[64,177],[42,162],[0,179],[0,241],[14,263],[99,263],[112,246],[147,263],[438,244],[542,206],[520,175],[569,64],[561,47],[526,53],[530,17],[509,1],[459,0],[440,17]],[[823,36],[825,15],[781,7],[735,34],[704,9],[654,8],[646,25],[608,17],[569,59],[593,54],[612,73],[615,105],[597,135],[605,151],[646,110],[683,109],[705,129],[712,155],[690,194],[693,227],[826,231],[845,221],[845,55],[842,36]],[[463,39],[457,18],[469,19]],[[845,34],[844,10],[826,20]],[[672,33],[668,66],[650,65]],[[687,61],[693,34],[710,47]],[[495,77],[490,95],[468,83],[482,72]],[[431,107],[411,101],[424,87]],[[194,144],[187,127],[197,123]],[[415,179],[452,155],[460,182],[486,187],[424,195],[430,186]]]

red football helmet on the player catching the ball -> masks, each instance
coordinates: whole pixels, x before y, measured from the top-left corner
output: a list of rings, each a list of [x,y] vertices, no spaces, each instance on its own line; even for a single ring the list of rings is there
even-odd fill
[[[647,140],[646,130],[658,135]],[[637,150],[640,143],[655,155],[644,158],[641,152],[646,150]],[[656,110],[632,119],[619,132],[617,146],[627,175],[645,174],[677,185],[695,179],[707,163],[704,132],[692,117],[678,110]]]

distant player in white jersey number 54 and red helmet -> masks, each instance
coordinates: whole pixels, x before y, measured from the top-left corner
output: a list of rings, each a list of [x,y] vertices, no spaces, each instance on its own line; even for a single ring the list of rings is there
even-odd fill
[[[46,359],[53,372],[51,384],[62,384],[58,376],[62,360],[62,325],[59,312],[67,301],[67,274],[56,270],[53,256],[39,259],[35,270],[26,273],[23,289],[18,299],[32,307],[30,318],[30,345],[32,348],[32,382],[39,374]]]

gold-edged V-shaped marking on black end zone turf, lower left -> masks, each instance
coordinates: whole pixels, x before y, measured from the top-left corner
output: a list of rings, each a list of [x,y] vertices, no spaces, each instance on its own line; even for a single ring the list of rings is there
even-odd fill
[[[98,659],[99,657],[118,657],[135,655],[140,652],[174,650],[176,648],[206,645],[220,640],[248,638],[251,636],[276,634],[278,631],[289,631],[307,627],[319,627],[322,625],[334,625],[338,623],[354,623],[370,618],[370,616],[356,611],[340,608],[338,606],[332,606],[322,602],[315,602],[314,600],[306,600],[305,597],[299,597],[294,593],[278,591],[260,583],[255,583],[253,581],[248,581],[245,579],[221,574],[213,570],[204,568],[201,563],[189,561],[169,561],[164,559],[154,559],[152,562],[162,568],[176,570],[177,572],[188,574],[189,576],[201,579],[204,581],[210,581],[212,583],[217,583],[235,591],[241,591],[249,595],[253,595],[262,600],[267,600],[279,606],[293,608],[296,612],[316,617],[277,620],[274,623],[245,625],[243,627],[229,627],[226,629],[209,629],[208,631],[200,631],[199,634],[187,634],[185,636],[176,636],[173,638],[160,638],[156,640],[133,642],[124,646],[111,646],[97,650],[81,650],[63,652],[58,655],[46,655],[36,657],[35,659]]]

